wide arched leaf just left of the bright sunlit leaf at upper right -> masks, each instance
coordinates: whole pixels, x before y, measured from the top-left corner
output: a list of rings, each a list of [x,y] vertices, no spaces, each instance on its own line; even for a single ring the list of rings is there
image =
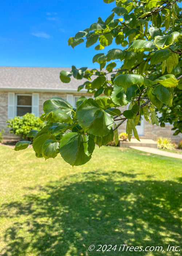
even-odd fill
[[[133,50],[134,52],[139,52],[139,51],[150,51],[155,48],[155,44],[151,41],[146,41],[146,40],[134,40],[132,41],[129,46],[127,51]]]

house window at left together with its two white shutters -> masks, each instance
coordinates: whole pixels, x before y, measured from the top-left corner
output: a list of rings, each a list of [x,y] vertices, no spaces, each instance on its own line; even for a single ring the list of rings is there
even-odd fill
[[[23,116],[27,112],[39,116],[39,94],[8,93],[8,119]]]

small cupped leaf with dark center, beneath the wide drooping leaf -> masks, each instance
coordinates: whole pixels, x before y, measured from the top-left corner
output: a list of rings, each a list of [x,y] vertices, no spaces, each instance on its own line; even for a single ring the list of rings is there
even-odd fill
[[[118,87],[114,85],[114,89],[111,93],[111,99],[118,106],[125,106],[128,103],[126,99],[126,94],[124,93],[124,89],[121,86]]]

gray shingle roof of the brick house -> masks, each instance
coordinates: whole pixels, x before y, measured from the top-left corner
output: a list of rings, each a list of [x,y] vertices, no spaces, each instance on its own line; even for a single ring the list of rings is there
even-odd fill
[[[62,83],[59,78],[62,70],[71,71],[71,68],[0,67],[0,90],[77,91],[78,86],[87,81],[71,77],[70,83]]]

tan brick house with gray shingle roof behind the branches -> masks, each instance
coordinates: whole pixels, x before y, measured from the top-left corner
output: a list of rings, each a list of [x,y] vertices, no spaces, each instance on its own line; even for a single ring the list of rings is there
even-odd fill
[[[71,68],[0,67],[0,131],[5,129],[4,137],[11,137],[6,128],[7,119],[27,112],[40,116],[47,99],[58,96],[75,107],[80,96],[93,97],[86,89],[77,91],[78,86],[86,79],[71,78],[70,83],[62,83],[59,79],[61,70],[70,71]],[[126,109],[127,106],[122,107],[122,110]],[[170,137],[175,142],[182,140],[182,134],[173,136],[172,127],[170,124],[163,128],[151,125],[141,117],[137,130],[141,138],[155,140],[163,136]],[[126,124],[119,127],[119,133],[125,132],[125,128]]]

